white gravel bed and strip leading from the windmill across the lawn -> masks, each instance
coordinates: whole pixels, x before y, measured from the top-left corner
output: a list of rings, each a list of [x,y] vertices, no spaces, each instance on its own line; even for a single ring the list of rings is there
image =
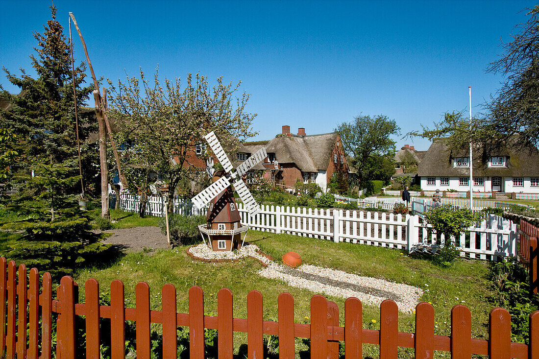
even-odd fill
[[[289,286],[308,289],[316,294],[340,296],[349,298],[355,296],[364,303],[379,306],[384,299],[394,300],[401,312],[411,312],[423,295],[423,289],[390,282],[384,279],[362,277],[331,268],[323,268],[303,264],[298,268],[290,268],[277,264],[257,253],[260,250],[254,244],[248,244],[238,251],[216,252],[205,244],[189,248],[189,251],[198,258],[205,259],[236,259],[253,257],[268,266],[258,273],[265,278],[277,279],[286,282]]]

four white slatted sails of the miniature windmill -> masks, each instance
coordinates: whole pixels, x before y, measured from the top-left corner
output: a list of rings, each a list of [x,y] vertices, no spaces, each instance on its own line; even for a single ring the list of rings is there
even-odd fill
[[[251,195],[251,192],[247,189],[247,186],[245,185],[245,182],[243,182],[243,179],[241,179],[241,176],[246,174],[248,170],[267,157],[266,149],[259,149],[256,153],[251,155],[251,157],[247,158],[245,162],[241,163],[236,171],[233,171],[234,168],[232,167],[232,163],[230,163],[230,160],[226,156],[225,150],[219,143],[216,135],[213,132],[210,132],[204,136],[204,138],[210,144],[213,154],[215,154],[217,160],[219,160],[219,162],[223,165],[225,175],[211,184],[208,188],[204,189],[198,195],[191,198],[191,201],[198,208],[203,208],[206,204],[212,201],[213,198],[217,197],[221,192],[226,190],[226,188],[228,188],[231,184],[230,181],[233,181],[232,185],[234,190],[236,190],[241,198],[247,212],[249,212],[251,216],[256,215],[258,212],[260,212],[260,206],[253,198],[253,195]]]

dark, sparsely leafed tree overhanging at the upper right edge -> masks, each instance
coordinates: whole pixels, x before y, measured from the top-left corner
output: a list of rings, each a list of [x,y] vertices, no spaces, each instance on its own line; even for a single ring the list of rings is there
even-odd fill
[[[539,5],[527,15],[527,22],[515,27],[513,40],[502,43],[502,56],[487,69],[505,79],[486,104],[487,124],[496,135],[490,139],[494,148],[513,139],[521,148],[539,148]]]

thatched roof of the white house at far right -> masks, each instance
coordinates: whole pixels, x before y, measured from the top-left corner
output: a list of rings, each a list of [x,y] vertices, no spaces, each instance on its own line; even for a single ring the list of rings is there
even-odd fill
[[[423,160],[419,164],[419,176],[468,176],[467,167],[453,167],[455,157],[468,157],[465,150],[451,153],[446,146],[447,139],[432,142]],[[539,176],[539,153],[537,150],[518,150],[514,147],[501,148],[495,156],[505,156],[507,167],[487,167],[481,161],[481,149],[474,150],[474,176],[537,177]]]

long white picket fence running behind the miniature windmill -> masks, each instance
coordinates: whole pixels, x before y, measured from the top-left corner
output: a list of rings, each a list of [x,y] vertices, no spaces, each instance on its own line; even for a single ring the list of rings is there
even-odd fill
[[[395,202],[384,202],[391,206]],[[364,201],[363,201],[364,202]],[[423,204],[421,211],[432,206],[427,199],[413,198],[412,208]],[[125,211],[139,210],[140,197],[122,194],[120,208]],[[361,203],[361,202],[360,202]],[[372,202],[371,202],[372,203]],[[379,206],[380,203],[373,203]],[[150,196],[146,208],[148,216],[164,215],[165,204],[161,197]],[[241,222],[253,230],[290,233],[296,236],[322,238],[335,242],[347,242],[397,248],[409,252],[415,250],[436,252],[443,246],[444,237],[431,233],[427,225],[421,223],[419,215],[395,215],[370,211],[336,209],[295,208],[289,206],[262,205],[261,211],[250,216],[243,204],[238,203]],[[205,215],[207,208],[197,209],[190,202],[175,199],[174,213],[184,216]],[[497,257],[515,257],[517,229],[513,222],[494,215],[487,216],[480,223],[469,227],[456,245],[461,256],[496,260]]]

